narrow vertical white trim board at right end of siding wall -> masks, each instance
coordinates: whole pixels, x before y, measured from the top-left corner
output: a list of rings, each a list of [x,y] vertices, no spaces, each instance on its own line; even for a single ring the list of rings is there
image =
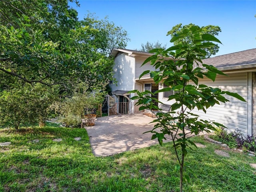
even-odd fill
[[[252,135],[252,72],[247,73],[247,134]]]

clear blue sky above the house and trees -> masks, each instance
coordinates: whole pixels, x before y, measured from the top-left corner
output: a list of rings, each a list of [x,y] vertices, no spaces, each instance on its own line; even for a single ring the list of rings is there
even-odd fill
[[[166,33],[176,24],[198,26],[217,25],[222,32],[217,38],[222,42],[223,55],[256,48],[256,1],[174,1],[174,0],[80,0],[80,20],[90,13],[99,19],[122,26],[130,37],[127,49],[141,48],[141,44],[157,42],[172,46]]]

